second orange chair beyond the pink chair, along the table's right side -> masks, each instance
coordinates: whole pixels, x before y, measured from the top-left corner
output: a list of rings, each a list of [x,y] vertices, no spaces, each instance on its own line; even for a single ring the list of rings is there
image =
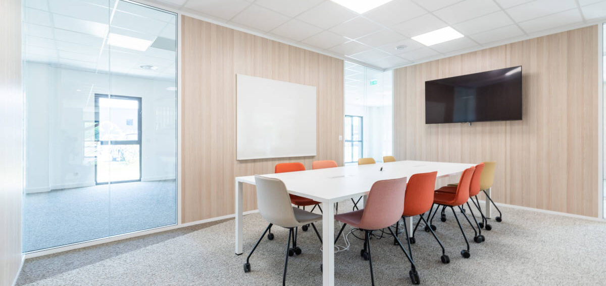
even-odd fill
[[[461,250],[461,255],[464,258],[470,258],[470,256],[471,256],[471,254],[469,253],[469,242],[467,241],[467,236],[465,235],[465,230],[463,230],[463,226],[461,226],[461,222],[459,221],[459,218],[456,215],[456,212],[454,212],[453,207],[459,207],[459,210],[461,210],[461,213],[465,216],[465,218],[467,218],[467,215],[465,215],[461,206],[463,204],[467,203],[467,200],[469,200],[469,186],[471,183],[471,177],[473,177],[473,172],[475,171],[475,169],[476,169],[476,167],[470,167],[469,169],[466,169],[465,171],[463,171],[463,174],[461,175],[461,179],[459,180],[459,185],[456,187],[456,191],[454,193],[440,192],[439,190],[443,189],[443,188],[441,188],[439,190],[436,190],[435,195],[433,197],[433,203],[435,205],[438,205],[438,207],[436,208],[436,213],[438,212],[438,209],[440,206],[447,206],[447,207],[450,207],[450,209],[452,210],[454,218],[456,219],[456,222],[459,224],[459,229],[461,229],[461,233],[463,234],[463,238],[465,239],[465,244],[467,244],[467,249]],[[427,218],[429,218],[429,215],[431,215],[431,210],[433,210],[433,206],[431,207]],[[435,216],[436,213],[434,213],[433,215]],[[469,220],[469,218],[467,218],[467,221],[469,222],[469,224],[473,228],[473,231],[475,232],[476,229],[471,224],[471,221]],[[426,230],[435,230],[435,226],[433,226],[433,225],[431,225],[431,227],[426,226],[425,229]],[[416,231],[416,228],[415,228],[415,231]],[[414,232],[413,232],[413,236],[414,236]]]

